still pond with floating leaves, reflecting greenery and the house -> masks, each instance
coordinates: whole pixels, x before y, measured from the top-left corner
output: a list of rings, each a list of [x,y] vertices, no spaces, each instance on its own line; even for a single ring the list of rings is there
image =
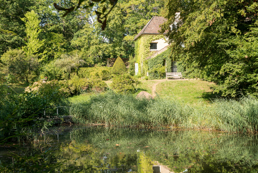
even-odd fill
[[[70,159],[56,172],[258,172],[257,142],[256,135],[72,125],[30,149],[52,147],[49,163]],[[1,147],[1,156],[7,150]]]

